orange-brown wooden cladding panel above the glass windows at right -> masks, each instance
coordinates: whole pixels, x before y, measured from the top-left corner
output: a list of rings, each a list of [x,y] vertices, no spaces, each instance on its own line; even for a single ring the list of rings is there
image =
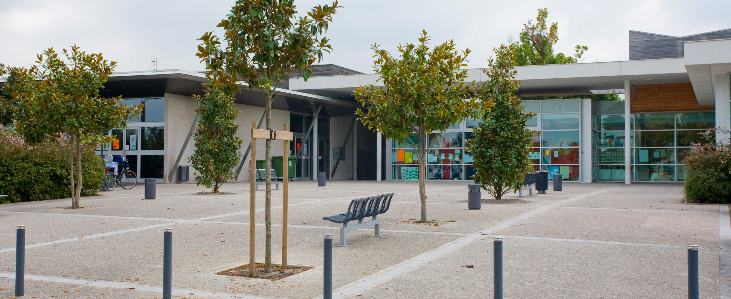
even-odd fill
[[[714,109],[698,105],[691,83],[633,85],[631,95],[632,113]]]

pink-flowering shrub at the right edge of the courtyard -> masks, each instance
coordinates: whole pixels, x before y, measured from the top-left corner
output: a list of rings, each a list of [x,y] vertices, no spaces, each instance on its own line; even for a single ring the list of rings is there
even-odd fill
[[[705,143],[694,143],[683,162],[686,164],[683,193],[686,203],[731,203],[731,139],[716,143],[713,128],[701,133]]]

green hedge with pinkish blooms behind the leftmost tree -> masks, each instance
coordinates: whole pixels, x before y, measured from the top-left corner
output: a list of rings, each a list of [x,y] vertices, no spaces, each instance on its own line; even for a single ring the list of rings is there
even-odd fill
[[[0,203],[55,200],[71,196],[69,162],[59,142],[31,146],[0,126]],[[82,195],[99,194],[105,167],[94,150],[81,159]]]

